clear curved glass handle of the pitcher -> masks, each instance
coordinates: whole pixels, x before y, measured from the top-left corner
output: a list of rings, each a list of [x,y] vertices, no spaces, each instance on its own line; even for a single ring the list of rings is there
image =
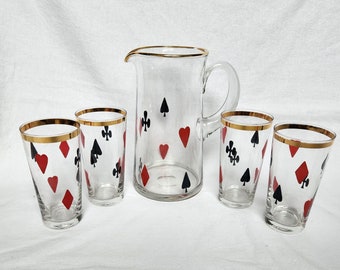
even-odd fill
[[[204,87],[203,94],[205,93],[205,88],[210,74],[221,69],[227,73],[228,76],[228,91],[222,106],[214,114],[208,117],[203,117],[202,131],[203,139],[207,138],[210,134],[216,131],[220,127],[220,114],[225,110],[234,110],[238,104],[240,97],[240,82],[235,69],[228,62],[219,62],[206,69],[204,74]]]

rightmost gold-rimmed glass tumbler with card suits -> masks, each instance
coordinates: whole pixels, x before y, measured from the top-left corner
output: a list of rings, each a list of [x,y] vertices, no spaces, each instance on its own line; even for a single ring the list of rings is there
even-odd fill
[[[308,124],[274,127],[265,221],[281,232],[302,231],[336,135]]]

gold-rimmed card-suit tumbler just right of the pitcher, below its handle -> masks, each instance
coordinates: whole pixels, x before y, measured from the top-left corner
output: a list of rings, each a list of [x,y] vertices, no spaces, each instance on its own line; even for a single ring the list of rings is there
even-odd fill
[[[223,112],[221,117],[219,200],[245,208],[254,201],[273,117],[254,111]]]

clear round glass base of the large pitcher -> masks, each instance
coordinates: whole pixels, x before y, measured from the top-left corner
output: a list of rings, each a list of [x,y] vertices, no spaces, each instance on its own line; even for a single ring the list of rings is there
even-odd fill
[[[192,170],[179,165],[161,164],[149,166],[149,179],[144,186],[140,175],[134,179],[134,187],[141,195],[157,201],[180,201],[195,196],[202,189],[202,181]],[[183,187],[185,176],[189,181]]]

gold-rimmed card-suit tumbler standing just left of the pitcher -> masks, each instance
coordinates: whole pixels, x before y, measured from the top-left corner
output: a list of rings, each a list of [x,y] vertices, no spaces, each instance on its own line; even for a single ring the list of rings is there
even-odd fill
[[[124,196],[126,114],[118,108],[75,113],[81,130],[83,176],[93,204],[109,206]]]

